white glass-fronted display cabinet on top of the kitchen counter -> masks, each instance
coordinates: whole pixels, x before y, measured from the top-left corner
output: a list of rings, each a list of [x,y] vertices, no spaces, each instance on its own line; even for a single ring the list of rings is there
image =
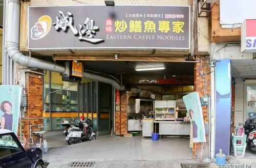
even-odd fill
[[[154,119],[176,121],[176,101],[154,101]]]

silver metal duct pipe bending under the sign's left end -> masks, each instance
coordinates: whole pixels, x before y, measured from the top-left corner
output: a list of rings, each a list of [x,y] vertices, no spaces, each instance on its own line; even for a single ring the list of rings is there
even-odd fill
[[[55,64],[54,62],[40,60],[23,55],[19,51],[19,20],[20,20],[20,0],[8,0],[8,19],[7,19],[7,33],[6,33],[6,46],[5,49],[9,57],[17,64],[27,66],[30,68],[38,68],[59,72],[60,74],[66,72],[65,65]],[[120,85],[116,80],[95,75],[89,72],[83,72],[83,77],[109,83],[118,90],[125,90],[125,87]]]

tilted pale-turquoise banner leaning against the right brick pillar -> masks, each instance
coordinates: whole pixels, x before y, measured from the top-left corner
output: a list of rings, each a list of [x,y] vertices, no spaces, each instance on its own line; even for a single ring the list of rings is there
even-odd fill
[[[203,111],[197,92],[183,96],[190,124],[193,129],[193,143],[206,142]]]

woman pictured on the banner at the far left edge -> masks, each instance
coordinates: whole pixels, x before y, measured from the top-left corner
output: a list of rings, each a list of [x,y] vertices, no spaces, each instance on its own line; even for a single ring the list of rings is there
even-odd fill
[[[12,131],[13,115],[11,114],[12,104],[9,101],[3,101],[0,105],[1,110],[5,113],[1,117],[1,128]]]

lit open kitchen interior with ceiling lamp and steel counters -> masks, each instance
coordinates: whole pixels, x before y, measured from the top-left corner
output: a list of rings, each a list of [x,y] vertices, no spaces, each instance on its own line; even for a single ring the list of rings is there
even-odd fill
[[[82,61],[82,64],[86,70],[112,76],[129,88],[126,91],[128,134],[147,138],[157,132],[161,134],[159,137],[189,137],[190,124],[182,96],[194,92],[195,62],[117,60]],[[139,68],[144,70],[138,71]]]

